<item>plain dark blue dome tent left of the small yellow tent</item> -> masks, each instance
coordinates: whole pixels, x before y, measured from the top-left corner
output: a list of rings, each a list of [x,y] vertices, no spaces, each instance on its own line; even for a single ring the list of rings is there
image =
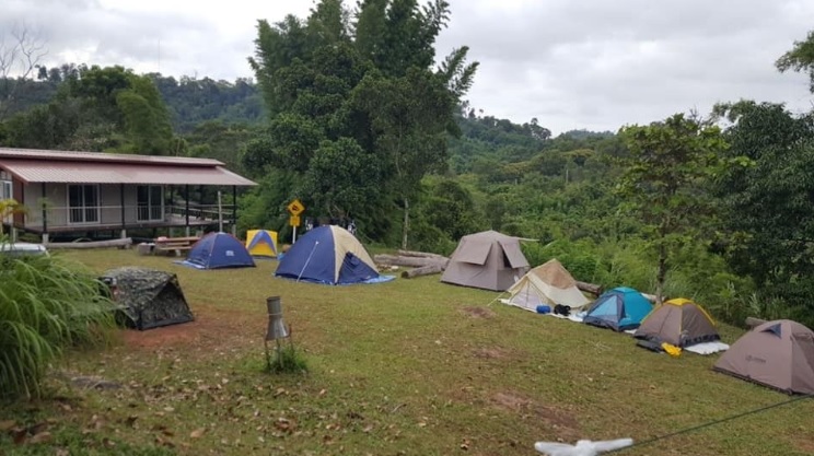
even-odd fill
[[[209,233],[189,249],[184,266],[197,269],[253,268],[252,255],[229,233]]]

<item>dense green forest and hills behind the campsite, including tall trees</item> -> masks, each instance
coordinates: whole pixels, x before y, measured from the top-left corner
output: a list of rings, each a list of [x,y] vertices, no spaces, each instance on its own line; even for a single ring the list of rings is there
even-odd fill
[[[814,326],[814,116],[733,101],[553,136],[545,119],[469,105],[466,48],[432,50],[443,2],[393,16],[364,2],[352,27],[338,3],[260,21],[256,79],[73,63],[1,78],[0,145],[218,159],[259,183],[240,197],[241,231],[289,238],[293,198],[384,247],[450,254],[496,230],[532,239],[533,266],[556,257],[582,281],[696,299],[735,324]],[[812,43],[778,69],[810,71]]]

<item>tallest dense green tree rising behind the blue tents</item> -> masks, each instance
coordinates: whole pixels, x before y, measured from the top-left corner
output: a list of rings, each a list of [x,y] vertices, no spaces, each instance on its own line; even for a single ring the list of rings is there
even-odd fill
[[[306,20],[260,21],[249,63],[270,119],[247,147],[247,168],[299,174],[291,196],[328,212],[313,215],[387,217],[398,206],[406,246],[410,200],[446,164],[477,68],[466,47],[433,68],[449,15],[443,0],[363,0],[352,12],[322,0]]]

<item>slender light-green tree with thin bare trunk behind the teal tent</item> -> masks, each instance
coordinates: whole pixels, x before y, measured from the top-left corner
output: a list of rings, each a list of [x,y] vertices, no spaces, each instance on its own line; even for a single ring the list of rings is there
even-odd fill
[[[726,142],[717,126],[682,114],[624,127],[619,135],[630,156],[617,190],[655,249],[655,295],[661,304],[671,253],[702,238],[712,204],[706,187],[720,171]]]

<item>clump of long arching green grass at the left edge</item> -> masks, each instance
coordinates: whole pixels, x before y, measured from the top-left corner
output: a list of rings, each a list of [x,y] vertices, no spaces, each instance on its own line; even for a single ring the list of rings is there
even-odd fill
[[[38,396],[63,349],[105,342],[113,303],[92,274],[58,257],[3,256],[0,274],[0,395]]]

